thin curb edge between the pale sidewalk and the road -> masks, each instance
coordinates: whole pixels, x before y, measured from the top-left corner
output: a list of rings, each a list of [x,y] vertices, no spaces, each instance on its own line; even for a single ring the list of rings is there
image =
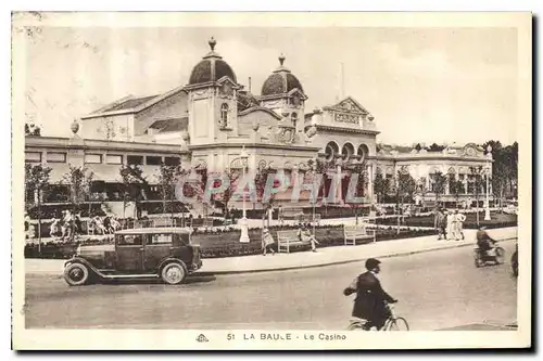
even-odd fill
[[[496,240],[496,241],[497,242],[506,242],[506,241],[514,241],[514,240],[518,240],[518,237],[507,237],[507,238],[502,238],[502,240]],[[389,254],[389,255],[375,256],[375,257],[376,258],[405,257],[405,256],[418,255],[418,254],[430,253],[430,252],[468,247],[468,246],[473,246],[473,245],[475,245],[475,243],[460,243],[460,244],[455,244],[455,245],[445,246],[445,247],[441,247],[441,248],[419,249],[419,250],[403,252],[403,253],[397,253],[397,254]],[[282,271],[311,269],[311,268],[319,268],[319,267],[328,267],[328,266],[348,265],[348,263],[361,262],[364,259],[366,259],[366,258],[348,259],[348,260],[332,261],[332,262],[326,262],[326,263],[320,263],[320,265],[289,266],[289,267],[280,267],[280,268],[273,268],[273,269],[260,269],[260,270],[257,269],[257,270],[216,271],[216,272],[205,271],[205,272],[195,272],[192,275],[205,276],[205,275],[217,275],[217,274],[225,275],[225,274],[243,274],[243,273],[262,273],[262,272],[282,272]],[[63,278],[62,274],[52,274],[52,273],[26,273],[26,276],[41,278],[41,279],[53,279],[53,280]]]

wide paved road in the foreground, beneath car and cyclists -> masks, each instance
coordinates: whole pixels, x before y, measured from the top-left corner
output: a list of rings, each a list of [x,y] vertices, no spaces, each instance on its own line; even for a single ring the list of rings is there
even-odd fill
[[[506,263],[476,269],[472,248],[383,259],[383,287],[412,330],[438,330],[487,320],[516,320],[514,242]],[[68,287],[42,276],[26,282],[28,327],[320,328],[344,330],[353,297],[343,288],[362,262],[298,271],[194,276],[181,286],[160,283]]]

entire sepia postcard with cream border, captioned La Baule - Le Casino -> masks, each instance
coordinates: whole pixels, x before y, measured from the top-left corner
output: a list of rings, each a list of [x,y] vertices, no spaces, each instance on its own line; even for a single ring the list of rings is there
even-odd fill
[[[530,13],[13,13],[14,349],[530,347],[531,44]]]

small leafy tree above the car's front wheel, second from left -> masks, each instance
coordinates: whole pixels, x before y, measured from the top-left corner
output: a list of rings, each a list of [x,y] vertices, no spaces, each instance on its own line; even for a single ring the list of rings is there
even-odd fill
[[[70,166],[68,172],[64,175],[61,182],[70,186],[72,216],[75,216],[76,212],[80,210],[81,204],[89,197],[93,178],[94,173],[85,166]],[[75,232],[74,229],[72,229],[71,241],[74,240],[74,236]]]

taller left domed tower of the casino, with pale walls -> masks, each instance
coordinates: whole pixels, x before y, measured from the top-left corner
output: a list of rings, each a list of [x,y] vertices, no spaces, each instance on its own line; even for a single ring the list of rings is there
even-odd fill
[[[224,141],[229,132],[238,133],[237,92],[241,87],[228,63],[211,51],[198,63],[185,87],[189,102],[189,137],[192,145]]]

